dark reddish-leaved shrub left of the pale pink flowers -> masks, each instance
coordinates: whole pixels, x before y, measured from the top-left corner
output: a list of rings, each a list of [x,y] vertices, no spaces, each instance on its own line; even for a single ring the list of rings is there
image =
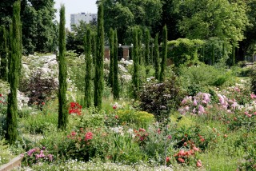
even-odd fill
[[[169,116],[171,108],[177,108],[181,93],[174,75],[162,83],[151,80],[143,86],[139,94],[139,108],[153,113],[157,121],[162,121]]]

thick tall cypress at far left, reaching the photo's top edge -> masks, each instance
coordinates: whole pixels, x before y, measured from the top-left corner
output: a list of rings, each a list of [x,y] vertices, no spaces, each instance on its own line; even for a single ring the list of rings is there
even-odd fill
[[[10,93],[8,94],[8,105],[7,105],[7,132],[6,139],[11,145],[17,139],[17,115],[18,115],[18,103],[17,103],[17,89],[18,89],[18,70],[20,66],[20,60],[22,58],[22,34],[21,34],[21,2],[14,2],[12,26],[10,26]]]

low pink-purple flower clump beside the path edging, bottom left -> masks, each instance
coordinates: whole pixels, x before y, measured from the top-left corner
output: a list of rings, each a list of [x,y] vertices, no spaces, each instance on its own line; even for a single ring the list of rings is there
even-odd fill
[[[33,165],[39,162],[52,162],[54,160],[54,156],[46,151],[46,147],[30,149],[22,157],[26,165]]]

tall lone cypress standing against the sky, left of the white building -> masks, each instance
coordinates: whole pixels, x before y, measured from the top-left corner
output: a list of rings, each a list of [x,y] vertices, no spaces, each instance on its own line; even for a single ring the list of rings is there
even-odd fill
[[[66,101],[66,35],[65,35],[65,6],[61,6],[60,10],[60,22],[59,22],[59,38],[58,38],[58,129],[66,129],[68,122],[68,109]]]

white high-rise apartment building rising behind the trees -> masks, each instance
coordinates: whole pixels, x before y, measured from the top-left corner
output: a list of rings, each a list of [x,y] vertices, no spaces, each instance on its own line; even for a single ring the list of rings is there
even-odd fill
[[[97,21],[98,14],[90,13],[79,13],[79,14],[70,14],[70,26],[78,26],[80,21],[90,23],[90,21]],[[72,28],[72,27],[71,27]]]

